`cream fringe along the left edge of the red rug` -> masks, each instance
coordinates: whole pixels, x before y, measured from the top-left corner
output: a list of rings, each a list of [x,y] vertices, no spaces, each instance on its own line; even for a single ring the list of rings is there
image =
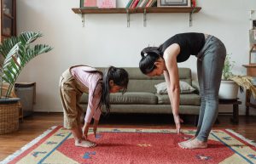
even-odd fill
[[[7,164],[9,161],[12,161],[15,159],[16,156],[19,156],[21,153],[24,151],[28,150],[31,148],[34,144],[37,144],[40,139],[43,139],[47,134],[52,132],[57,126],[50,127],[48,130],[44,131],[43,134],[39,135],[36,139],[33,139],[30,143],[25,144],[20,150],[15,151],[14,154],[6,157],[3,161],[0,161],[0,164]]]

